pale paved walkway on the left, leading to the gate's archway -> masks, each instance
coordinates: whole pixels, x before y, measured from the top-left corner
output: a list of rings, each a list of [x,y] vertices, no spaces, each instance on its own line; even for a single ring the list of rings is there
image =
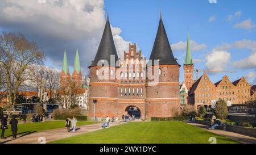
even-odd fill
[[[110,128],[122,124],[123,122],[110,123]],[[82,125],[77,127],[76,132],[67,132],[67,128],[49,129],[46,131],[35,132],[25,135],[17,135],[17,139],[8,137],[5,140],[0,140],[0,143],[6,144],[40,144],[48,143],[49,141],[60,140],[71,136],[81,135],[82,133],[97,131],[101,128],[102,123]],[[107,129],[107,128],[106,128]]]

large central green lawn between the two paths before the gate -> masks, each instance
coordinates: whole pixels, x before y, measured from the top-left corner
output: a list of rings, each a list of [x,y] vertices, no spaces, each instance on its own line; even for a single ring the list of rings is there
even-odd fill
[[[210,137],[217,143],[237,143],[226,137],[215,135],[204,129],[183,122],[130,122],[98,131],[84,133],[50,143],[70,144],[209,144]]]

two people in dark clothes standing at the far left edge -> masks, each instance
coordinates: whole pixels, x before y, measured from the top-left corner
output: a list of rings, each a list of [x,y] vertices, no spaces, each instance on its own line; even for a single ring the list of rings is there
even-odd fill
[[[18,120],[16,120],[15,116],[10,120],[9,124],[11,125],[11,131],[13,132],[13,139],[16,139],[17,137],[17,131],[18,131]],[[8,129],[7,125],[7,115],[3,115],[1,117],[1,139],[6,139],[5,137],[5,130]]]

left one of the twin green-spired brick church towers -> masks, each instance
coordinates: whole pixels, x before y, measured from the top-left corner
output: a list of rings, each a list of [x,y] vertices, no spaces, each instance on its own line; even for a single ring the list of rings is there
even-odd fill
[[[60,87],[61,89],[69,86],[69,82],[71,80],[69,69],[68,69],[68,59],[66,50],[64,51],[63,63],[62,63],[62,70],[60,73]]]

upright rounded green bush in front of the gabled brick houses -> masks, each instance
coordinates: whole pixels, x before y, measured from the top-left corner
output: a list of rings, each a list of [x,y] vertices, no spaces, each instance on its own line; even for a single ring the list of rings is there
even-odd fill
[[[228,117],[228,107],[225,100],[218,100],[214,108],[214,114],[217,119],[226,119]]]

